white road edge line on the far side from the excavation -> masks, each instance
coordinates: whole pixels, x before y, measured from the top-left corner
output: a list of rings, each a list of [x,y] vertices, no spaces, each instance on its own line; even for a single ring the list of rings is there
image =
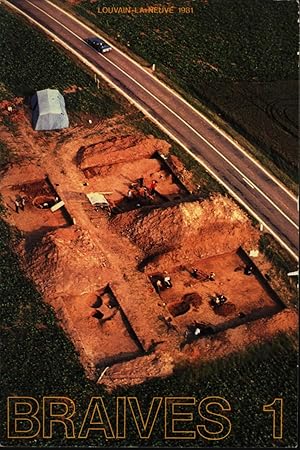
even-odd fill
[[[63,12],[65,15],[70,17],[75,22],[79,23],[81,26],[83,26],[86,30],[96,33],[101,36],[101,33],[99,34],[99,31],[95,31],[93,28],[89,27],[85,23],[81,22],[79,19],[77,19],[76,16],[73,16],[68,11],[65,11],[60,6],[56,5],[55,3],[52,3],[50,0],[45,0],[47,3],[49,3],[54,8],[58,9],[59,11]],[[102,37],[103,39],[106,39]],[[286,194],[288,194],[292,200],[297,202],[297,196],[295,196],[278,178],[276,178],[271,172],[269,172],[261,163],[255,159],[251,154],[249,154],[237,141],[235,141],[230,135],[228,135],[222,128],[220,128],[218,125],[216,125],[214,122],[212,122],[208,117],[206,117],[203,113],[198,111],[194,106],[190,105],[185,98],[181,97],[178,92],[176,92],[174,89],[172,89],[167,84],[163,83],[159,78],[155,77],[152,73],[148,72],[142,65],[140,65],[137,61],[132,59],[130,56],[128,56],[126,53],[124,53],[122,50],[120,50],[118,47],[116,47],[114,44],[111,44],[109,41],[108,43],[112,46],[114,50],[116,50],[118,53],[122,54],[123,57],[125,57],[128,61],[135,64],[139,69],[143,70],[145,74],[147,74],[149,77],[151,77],[153,80],[158,82],[161,86],[163,86],[165,89],[170,91],[174,96],[176,96],[180,101],[185,103],[186,106],[191,108],[197,115],[199,115],[205,122],[207,122],[212,128],[214,128],[216,131],[218,131],[227,141],[229,141],[232,145],[234,145],[239,151],[241,151],[244,156],[246,156],[250,161],[252,161],[257,167],[259,167],[260,170],[262,170],[275,184],[277,184],[278,187],[280,187]]]

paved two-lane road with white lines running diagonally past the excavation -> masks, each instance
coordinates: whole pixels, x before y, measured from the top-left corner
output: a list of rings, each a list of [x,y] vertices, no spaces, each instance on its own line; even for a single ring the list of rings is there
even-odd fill
[[[297,200],[274,177],[174,91],[118,49],[105,55],[84,39],[87,26],[48,0],[5,0],[103,76],[192,153],[281,244],[298,258]],[[33,43],[34,45],[34,43]]]

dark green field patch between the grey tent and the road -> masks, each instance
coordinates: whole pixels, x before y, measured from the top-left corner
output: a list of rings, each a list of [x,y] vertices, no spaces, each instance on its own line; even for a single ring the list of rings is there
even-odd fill
[[[69,112],[95,114],[101,119],[122,111],[122,100],[104,83],[98,90],[86,71],[23,19],[0,7],[0,22],[0,101],[26,98],[40,89],[63,92],[77,86],[81,90],[65,95]]]

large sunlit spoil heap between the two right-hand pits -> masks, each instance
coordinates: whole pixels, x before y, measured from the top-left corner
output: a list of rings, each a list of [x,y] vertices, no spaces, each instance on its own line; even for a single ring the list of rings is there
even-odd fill
[[[175,251],[212,256],[254,245],[259,232],[247,215],[229,198],[216,194],[203,202],[131,211],[117,216],[112,224],[145,253],[145,256]],[[176,259],[176,258],[175,258]]]

